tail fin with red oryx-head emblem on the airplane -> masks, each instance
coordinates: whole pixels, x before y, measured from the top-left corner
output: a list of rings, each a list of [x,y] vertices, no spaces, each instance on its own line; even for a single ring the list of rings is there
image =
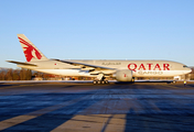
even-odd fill
[[[18,34],[18,38],[22,46],[26,62],[47,61],[46,56],[44,56],[24,34]]]

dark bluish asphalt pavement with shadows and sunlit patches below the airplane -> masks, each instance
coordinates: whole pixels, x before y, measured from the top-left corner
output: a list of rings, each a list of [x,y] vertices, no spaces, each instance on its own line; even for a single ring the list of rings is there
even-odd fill
[[[194,84],[0,84],[0,131],[194,131]]]

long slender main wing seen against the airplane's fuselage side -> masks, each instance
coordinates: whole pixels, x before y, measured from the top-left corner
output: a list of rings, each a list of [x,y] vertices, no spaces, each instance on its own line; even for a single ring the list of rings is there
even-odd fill
[[[80,66],[82,68],[93,68],[93,69],[97,69],[97,70],[115,70],[115,68],[97,66],[97,65],[89,65],[89,64],[84,64],[84,63],[76,63],[76,62],[71,62],[71,61],[61,61],[61,59],[54,59],[54,61],[71,64],[74,66]]]

